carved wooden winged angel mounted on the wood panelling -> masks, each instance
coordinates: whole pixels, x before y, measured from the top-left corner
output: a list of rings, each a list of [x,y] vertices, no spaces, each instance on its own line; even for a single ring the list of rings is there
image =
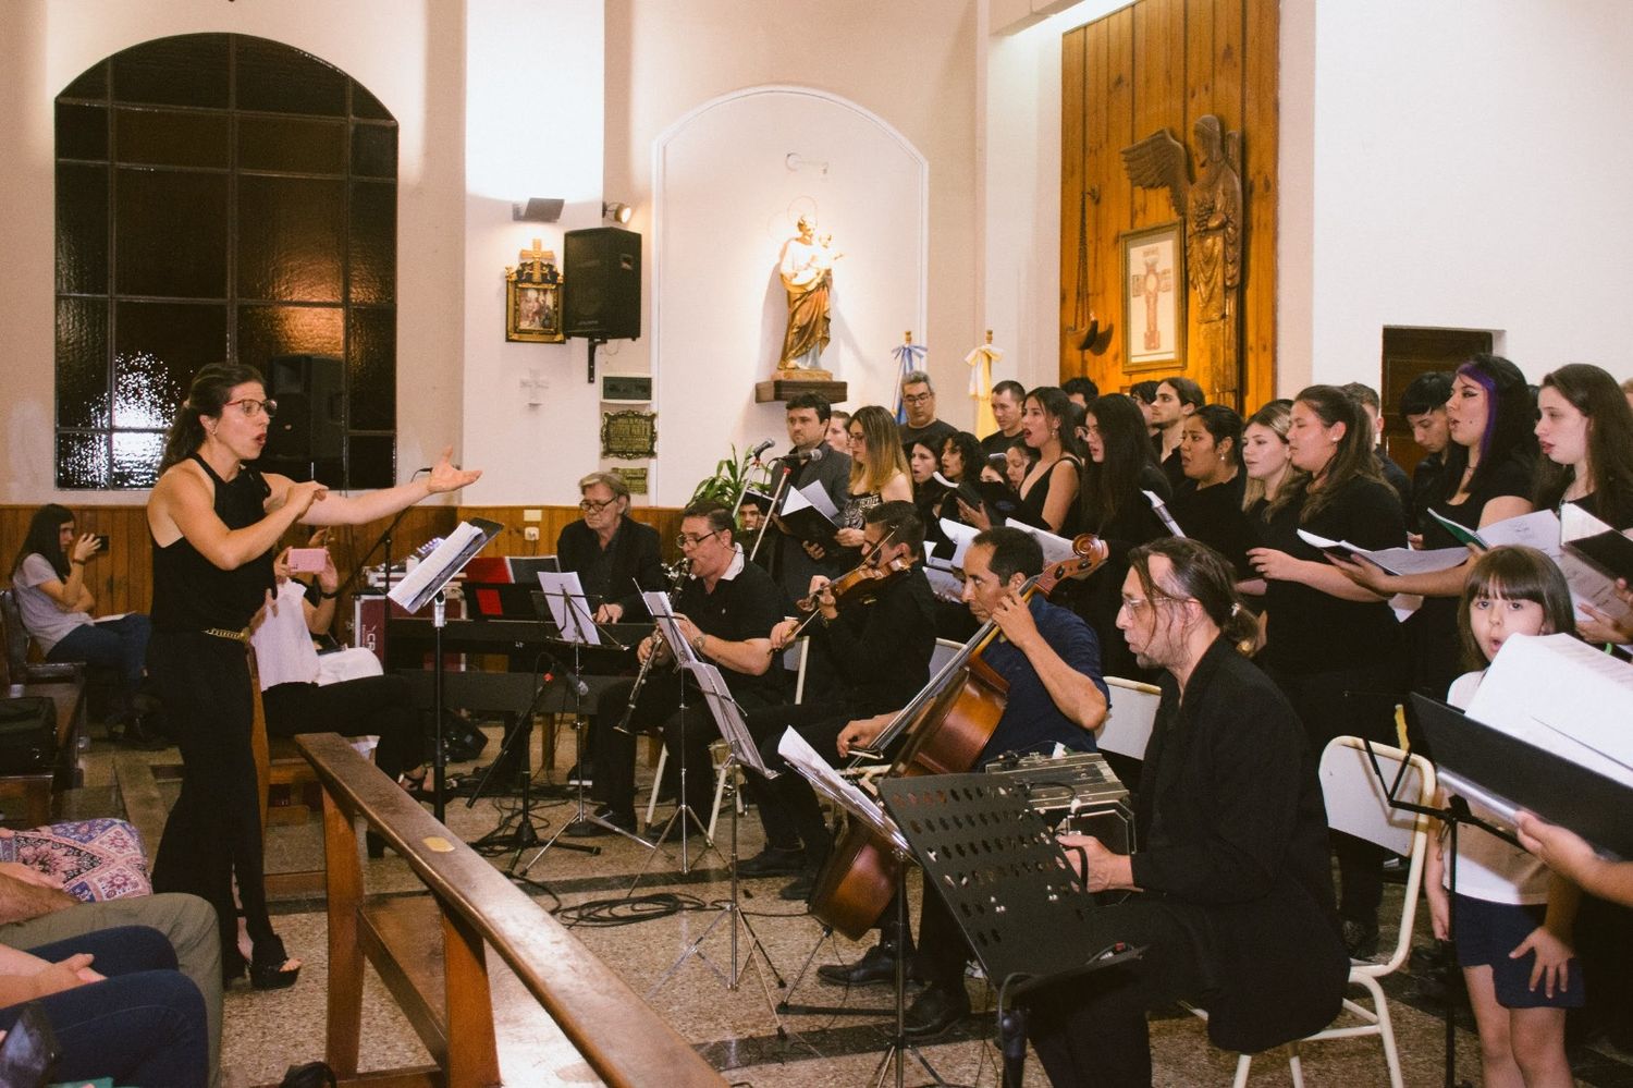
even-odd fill
[[[1197,118],[1197,180],[1190,181],[1186,145],[1158,129],[1122,150],[1128,180],[1166,188],[1174,214],[1186,219],[1186,278],[1195,294],[1199,337],[1190,359],[1208,399],[1235,397],[1241,387],[1241,132],[1225,132],[1217,116]]]

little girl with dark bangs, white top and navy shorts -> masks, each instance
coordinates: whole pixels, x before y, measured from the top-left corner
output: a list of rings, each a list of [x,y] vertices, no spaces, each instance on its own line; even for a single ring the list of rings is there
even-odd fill
[[[1479,668],[1458,676],[1447,701],[1468,706],[1509,637],[1571,624],[1571,590],[1553,560],[1530,547],[1491,549],[1470,570],[1458,608],[1463,657]],[[1478,802],[1470,807],[1497,820]],[[1424,892],[1434,934],[1444,941],[1455,933],[1484,1083],[1571,1085],[1564,1011],[1582,1005],[1586,988],[1569,943],[1577,887],[1479,828],[1458,835],[1455,864],[1447,864],[1440,841],[1429,843]]]

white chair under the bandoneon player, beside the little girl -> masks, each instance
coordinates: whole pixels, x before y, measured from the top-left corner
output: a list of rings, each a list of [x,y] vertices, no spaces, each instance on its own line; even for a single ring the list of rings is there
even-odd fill
[[[1424,805],[1434,797],[1434,768],[1419,755],[1408,756],[1399,748],[1390,745],[1372,745],[1378,758],[1378,771],[1383,781],[1393,784],[1395,776],[1406,761],[1406,773],[1396,789],[1399,800]],[[1293,1080],[1293,1088],[1303,1088],[1305,1072],[1300,1047],[1306,1042],[1323,1039],[1355,1039],[1360,1036],[1377,1036],[1383,1044],[1383,1060],[1390,1068],[1391,1088],[1401,1088],[1401,1055],[1395,1047],[1395,1028],[1390,1023],[1390,1003],[1383,997],[1380,979],[1393,974],[1406,962],[1413,946],[1413,923],[1417,916],[1417,892],[1422,885],[1424,846],[1429,833],[1427,817],[1391,809],[1385,796],[1385,786],[1373,771],[1372,760],[1359,737],[1334,737],[1321,753],[1321,796],[1326,800],[1328,827],[1355,838],[1377,843],[1388,851],[1408,858],[1406,890],[1401,897],[1401,928],[1395,938],[1395,949],[1386,961],[1350,962],[1349,985],[1360,987],[1372,995],[1372,1008],[1344,998],[1344,1013],[1362,1021],[1344,1028],[1328,1028],[1313,1036],[1305,1036],[1287,1044],[1287,1072]],[[1192,1010],[1207,1019],[1202,1010]],[[1342,1016],[1342,1014],[1341,1014]],[[1248,1083],[1248,1072],[1253,1067],[1253,1055],[1243,1054],[1236,1060],[1236,1088]]]

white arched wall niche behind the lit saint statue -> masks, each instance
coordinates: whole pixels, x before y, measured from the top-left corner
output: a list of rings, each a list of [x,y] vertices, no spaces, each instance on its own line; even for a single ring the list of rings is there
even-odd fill
[[[879,345],[924,328],[929,170],[875,114],[795,87],[705,103],[653,155],[652,368],[663,412],[653,475],[658,502],[676,505],[728,444],[782,443],[781,404],[722,390],[753,389],[782,354],[789,307],[776,270],[802,216],[844,255],[820,366],[848,382],[849,404],[892,404],[897,364]],[[707,420],[710,439],[673,441],[687,420]]]

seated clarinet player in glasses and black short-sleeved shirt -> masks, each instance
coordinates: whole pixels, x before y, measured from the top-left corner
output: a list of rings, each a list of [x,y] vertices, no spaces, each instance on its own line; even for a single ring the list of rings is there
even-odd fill
[[[691,560],[691,577],[670,600],[692,653],[714,663],[738,706],[753,711],[784,701],[782,670],[771,667],[776,660],[771,629],[782,621],[787,600],[769,573],[746,562],[743,547],[733,537],[728,506],[697,502],[681,511],[676,544]],[[683,676],[674,670],[673,649],[661,645],[656,634],[642,639],[635,655],[642,662],[656,655],[640,693],[634,694],[635,681],[630,680],[609,686],[596,702],[594,796],[603,802],[596,815],[624,832],[635,832],[635,734],[661,729],[671,765],[679,766],[683,750],[686,753],[683,804],[707,818],[714,800],[714,766],[707,747],[719,732],[702,693],[687,684],[686,711],[678,709]],[[629,732],[621,732],[625,714]],[[585,822],[568,833],[590,836],[612,832]]]

